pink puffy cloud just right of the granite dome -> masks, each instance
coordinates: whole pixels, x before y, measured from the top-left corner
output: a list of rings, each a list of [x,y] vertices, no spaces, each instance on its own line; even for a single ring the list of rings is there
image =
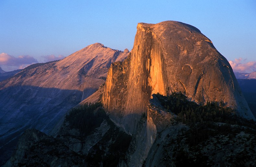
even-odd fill
[[[233,68],[234,72],[253,72],[256,71],[256,61],[249,61],[246,62],[246,59],[243,60],[240,58],[235,58],[235,60],[229,61],[231,67]]]

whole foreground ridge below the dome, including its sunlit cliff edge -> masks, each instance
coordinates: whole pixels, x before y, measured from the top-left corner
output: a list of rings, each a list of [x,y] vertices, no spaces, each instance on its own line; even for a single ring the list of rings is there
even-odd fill
[[[229,110],[215,104],[200,107],[179,98],[178,94],[171,98],[153,95],[120,166],[256,164],[255,122],[231,116]],[[187,112],[181,106],[188,107]],[[198,107],[206,112],[196,113]]]

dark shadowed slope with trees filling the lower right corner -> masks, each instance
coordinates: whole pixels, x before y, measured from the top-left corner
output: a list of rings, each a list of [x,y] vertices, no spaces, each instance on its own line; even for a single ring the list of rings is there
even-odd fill
[[[163,144],[162,164],[199,166],[236,166],[256,164],[256,124],[241,118],[222,103],[204,106],[188,101],[181,92],[167,97],[156,95],[164,110],[177,114],[176,128],[183,128],[176,137],[168,135]],[[162,135],[162,134],[160,134]]]

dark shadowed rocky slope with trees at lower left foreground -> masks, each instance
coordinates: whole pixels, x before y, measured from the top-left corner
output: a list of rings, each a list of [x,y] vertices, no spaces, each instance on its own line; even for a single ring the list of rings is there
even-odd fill
[[[94,110],[95,107],[71,111],[56,138],[38,130],[26,130],[15,154],[4,166],[117,166],[131,137],[116,127],[103,109]],[[90,117],[84,120],[86,130],[77,123],[83,114]]]

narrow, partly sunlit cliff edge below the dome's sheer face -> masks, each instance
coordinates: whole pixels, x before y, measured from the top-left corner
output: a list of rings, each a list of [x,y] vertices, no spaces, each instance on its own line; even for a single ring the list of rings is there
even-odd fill
[[[178,129],[185,127],[170,128],[173,122],[174,114],[163,109],[158,98],[152,95],[147,113],[140,118],[137,129],[132,136],[132,141],[126,153],[126,160],[120,161],[120,166],[143,166],[149,154],[154,153],[155,155],[157,149],[152,149],[152,146],[156,145],[155,142],[163,141],[160,136],[161,133],[175,137]],[[162,156],[156,155],[155,159],[162,159]]]

